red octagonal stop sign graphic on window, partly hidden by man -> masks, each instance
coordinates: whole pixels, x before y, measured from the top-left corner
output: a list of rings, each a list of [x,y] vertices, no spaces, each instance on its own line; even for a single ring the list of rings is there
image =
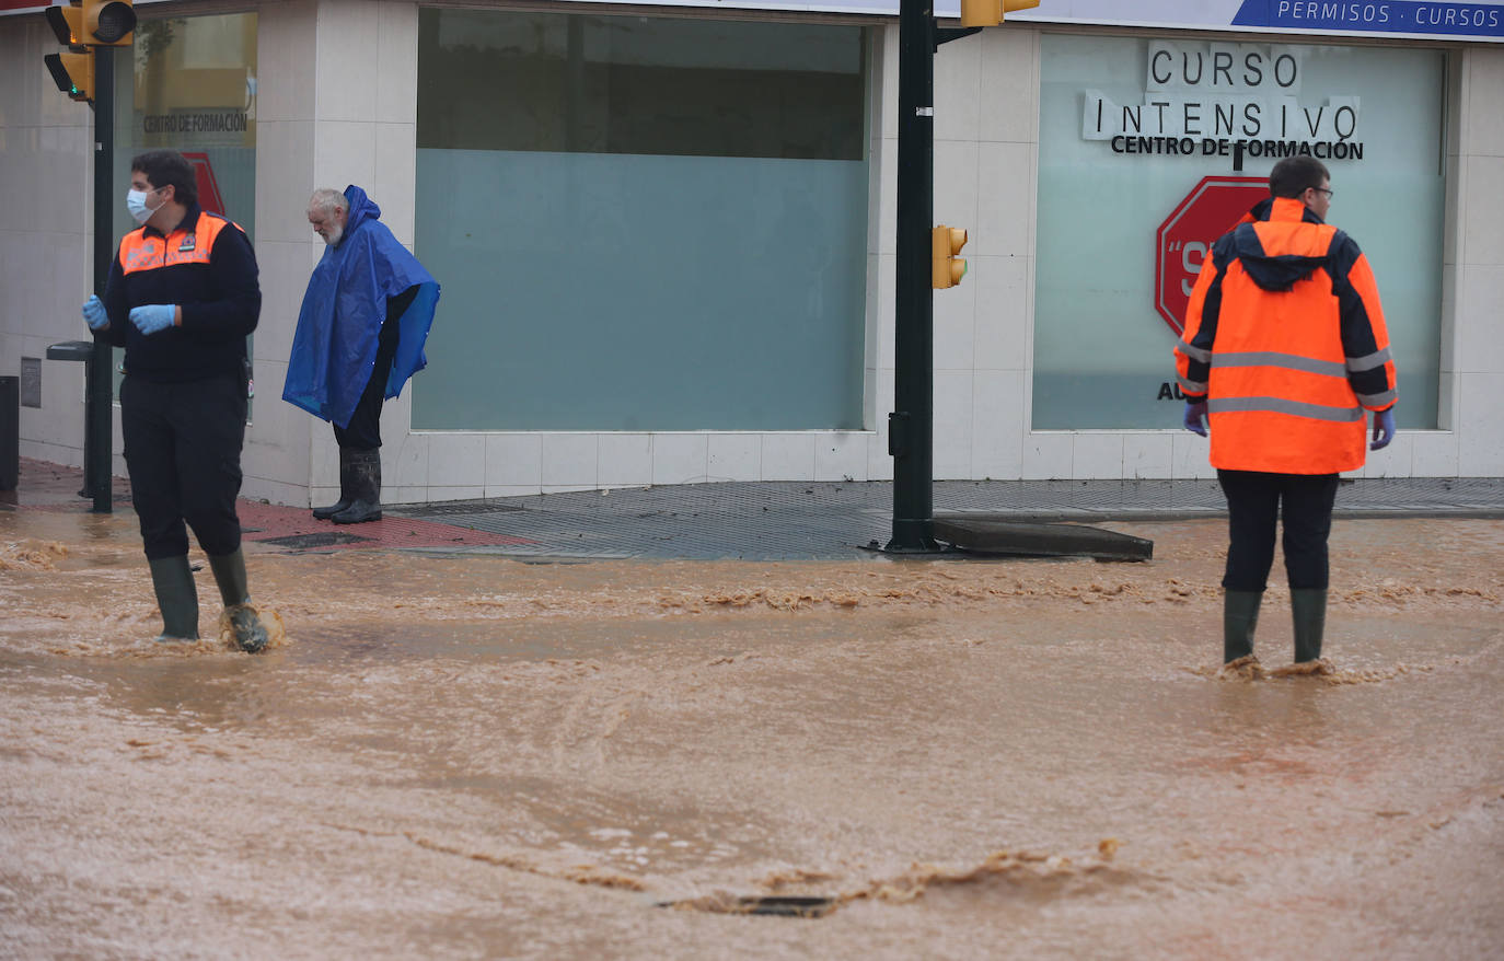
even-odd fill
[[[1154,308],[1176,335],[1185,331],[1191,287],[1212,244],[1268,196],[1265,177],[1202,177],[1160,224],[1154,247]]]

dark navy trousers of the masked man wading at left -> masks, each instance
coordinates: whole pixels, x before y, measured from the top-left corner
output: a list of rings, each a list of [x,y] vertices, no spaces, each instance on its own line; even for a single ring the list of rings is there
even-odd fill
[[[149,559],[188,553],[190,526],[206,553],[233,553],[241,546],[235,498],[245,405],[241,374],[188,383],[132,376],[120,382],[125,466]]]

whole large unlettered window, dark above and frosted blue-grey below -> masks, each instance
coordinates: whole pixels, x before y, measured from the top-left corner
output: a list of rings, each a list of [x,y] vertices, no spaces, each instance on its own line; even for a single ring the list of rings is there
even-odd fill
[[[859,27],[418,23],[414,427],[862,427]]]

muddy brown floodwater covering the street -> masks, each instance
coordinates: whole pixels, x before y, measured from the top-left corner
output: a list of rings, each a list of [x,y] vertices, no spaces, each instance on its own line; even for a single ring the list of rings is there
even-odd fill
[[[1223,523],[1113,526],[1155,559],[257,552],[253,657],[150,641],[129,514],[0,513],[0,955],[1499,956],[1504,523],[1339,520],[1337,672],[1257,681]]]

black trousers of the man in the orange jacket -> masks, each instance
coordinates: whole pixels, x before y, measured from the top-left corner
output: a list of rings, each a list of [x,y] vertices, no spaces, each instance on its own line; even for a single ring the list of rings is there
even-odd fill
[[[1232,591],[1268,587],[1275,526],[1283,514],[1284,573],[1290,587],[1325,590],[1337,475],[1217,471],[1217,480],[1227,496],[1230,538],[1223,587]]]

